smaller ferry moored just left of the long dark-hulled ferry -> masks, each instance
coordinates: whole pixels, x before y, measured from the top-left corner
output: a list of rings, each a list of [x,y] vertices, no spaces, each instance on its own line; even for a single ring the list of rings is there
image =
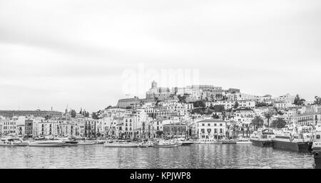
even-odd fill
[[[272,147],[273,137],[275,137],[275,134],[272,130],[259,129],[258,131],[253,132],[250,136],[250,142],[252,142],[252,145],[259,147]]]

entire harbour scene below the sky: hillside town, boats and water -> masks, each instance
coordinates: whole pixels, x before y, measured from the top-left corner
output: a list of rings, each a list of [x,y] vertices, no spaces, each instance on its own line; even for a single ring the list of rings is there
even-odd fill
[[[204,169],[321,166],[319,97],[308,103],[300,95],[273,98],[213,85],[187,86],[181,88],[183,94],[178,88],[168,88],[165,94],[163,89],[153,81],[146,98],[120,99],[117,105],[92,113],[84,108],[78,112],[68,105],[64,113],[53,108],[0,110],[0,153],[5,162],[1,166]],[[200,95],[186,94],[184,90]],[[215,98],[203,98],[206,93]],[[37,155],[55,162],[34,164],[39,163],[31,162]],[[60,155],[66,157],[57,160]]]

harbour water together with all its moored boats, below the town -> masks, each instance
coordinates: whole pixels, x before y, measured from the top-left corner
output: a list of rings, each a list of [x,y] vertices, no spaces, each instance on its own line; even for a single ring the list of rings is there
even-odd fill
[[[229,140],[2,137],[0,168],[320,169],[319,127],[305,133],[311,136],[287,125],[282,135],[263,128],[250,138]]]

